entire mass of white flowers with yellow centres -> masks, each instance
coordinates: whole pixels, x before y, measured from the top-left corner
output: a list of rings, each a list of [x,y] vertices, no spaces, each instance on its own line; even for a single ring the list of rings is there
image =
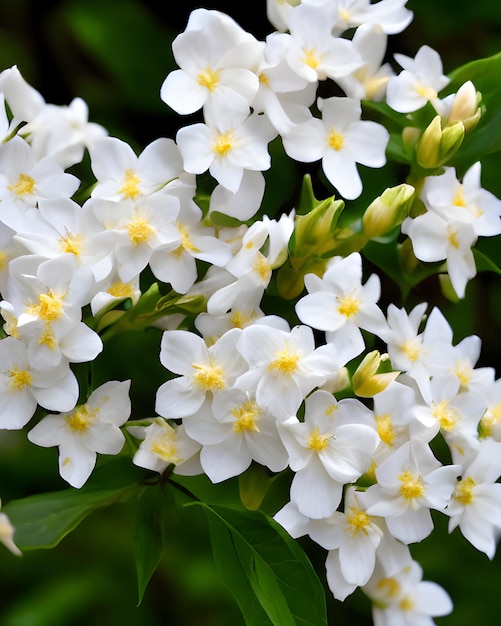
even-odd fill
[[[161,97],[180,114],[202,109],[203,123],[139,156],[88,123],[81,100],[56,107],[15,67],[0,74],[0,428],[24,428],[38,406],[50,412],[28,438],[58,446],[61,476],[82,486],[97,453],[120,452],[120,427],[131,415],[130,381],[80,397],[71,365],[102,351],[97,320],[139,300],[145,268],[177,295],[204,296],[195,329],[182,326],[182,315],[162,320],[169,379],[156,391],[158,415],[125,426],[141,440],[134,463],[204,472],[215,483],[253,462],[290,468],[290,502],[276,519],[328,551],[336,598],[363,588],[377,626],[424,626],[452,608],[445,591],[422,581],[408,547],[432,532],[431,510],[493,557],[501,533],[500,382],[494,370],[475,368],[478,337],[454,345],[438,309],[426,316],[426,304],[410,313],[390,305],[385,314],[379,278],[363,282],[357,251],[331,255],[323,272],[306,274],[306,294],[290,304],[299,324],[265,313],[263,295],[298,222],[294,212],[249,221],[277,136],[291,158],[321,161],[349,200],[362,192],[357,164],[382,167],[389,139],[384,126],[361,119],[362,100],[386,100],[402,113],[431,103],[444,124],[464,126],[474,116],[466,106],[457,117],[465,98],[476,110],[473,86],[439,98],[448,79],[426,46],[414,59],[397,55],[398,75],[383,64],[387,36],[412,19],[405,4],[269,0],[277,31],[264,42],[218,11],[194,11],[173,43],[180,69]],[[345,95],[316,99],[320,81]],[[425,139],[417,146],[423,163]],[[79,204],[80,181],[65,170],[85,149],[95,184]],[[206,172],[217,184],[204,212],[194,198],[196,176]],[[402,232],[419,259],[446,261],[462,296],[475,274],[472,245],[501,233],[501,202],[481,188],[479,164],[462,182],[446,167],[419,193],[423,211]],[[215,226],[216,212],[240,225]],[[385,359],[365,355],[352,386],[372,399],[336,400],[368,336],[384,344],[391,367],[377,373]],[[452,464],[432,451],[439,437]]]

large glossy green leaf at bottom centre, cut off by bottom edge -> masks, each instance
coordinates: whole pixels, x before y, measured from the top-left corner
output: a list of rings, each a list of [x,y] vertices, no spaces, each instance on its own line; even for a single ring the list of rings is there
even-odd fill
[[[260,511],[202,502],[221,576],[247,626],[327,626],[325,594],[308,557]]]

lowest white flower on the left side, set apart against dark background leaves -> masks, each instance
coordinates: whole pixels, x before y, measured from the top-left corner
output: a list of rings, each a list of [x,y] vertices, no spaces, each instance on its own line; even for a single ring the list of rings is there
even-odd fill
[[[59,472],[72,487],[87,481],[98,452],[118,454],[122,449],[125,438],[119,427],[130,416],[129,387],[130,380],[104,383],[85,404],[48,415],[28,433],[39,446],[59,446]]]

